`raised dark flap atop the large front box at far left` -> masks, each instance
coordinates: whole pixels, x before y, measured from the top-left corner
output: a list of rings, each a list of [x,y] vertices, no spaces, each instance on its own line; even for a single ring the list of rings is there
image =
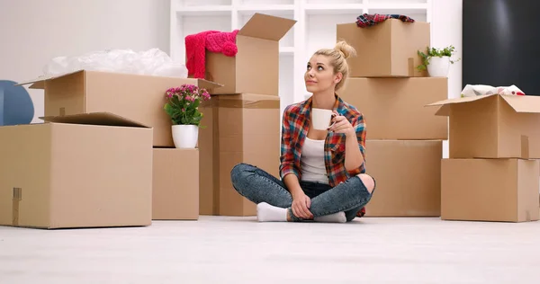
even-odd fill
[[[128,120],[111,112],[92,112],[81,114],[70,114],[65,116],[49,116],[40,117],[46,122],[69,123],[69,124],[88,124],[88,125],[103,125],[103,126],[122,126],[122,127],[137,127],[149,128],[139,122]]]

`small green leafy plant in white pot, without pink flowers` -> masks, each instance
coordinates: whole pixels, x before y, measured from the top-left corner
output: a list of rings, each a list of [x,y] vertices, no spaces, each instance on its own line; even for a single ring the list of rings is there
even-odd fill
[[[455,53],[454,46],[448,46],[444,49],[428,48],[427,53],[419,50],[419,56],[422,58],[422,64],[417,67],[419,71],[428,69],[428,74],[432,77],[446,77],[450,64],[459,61],[452,60]]]

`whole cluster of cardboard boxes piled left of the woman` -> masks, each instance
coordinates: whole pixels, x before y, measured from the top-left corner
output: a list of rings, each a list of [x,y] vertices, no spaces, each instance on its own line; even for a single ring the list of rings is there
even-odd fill
[[[278,42],[294,23],[254,15],[238,32],[236,57],[207,54],[211,81],[79,70],[23,82],[44,90],[45,123],[0,128],[0,225],[255,215],[230,171],[249,163],[278,175]],[[163,109],[166,90],[182,84],[213,95],[200,107],[206,129],[194,149],[175,148]]]

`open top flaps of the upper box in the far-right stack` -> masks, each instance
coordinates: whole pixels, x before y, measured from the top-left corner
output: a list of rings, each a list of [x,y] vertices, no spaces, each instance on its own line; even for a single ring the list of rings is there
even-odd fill
[[[531,112],[540,113],[540,97],[531,95],[507,95],[507,94],[484,94],[473,97],[448,99],[439,102],[429,103],[427,106],[440,106],[436,115],[449,116],[450,109],[455,104],[463,104],[468,102],[477,102],[481,100],[487,100],[489,98],[500,97],[504,102],[507,102],[509,106],[516,112]]]

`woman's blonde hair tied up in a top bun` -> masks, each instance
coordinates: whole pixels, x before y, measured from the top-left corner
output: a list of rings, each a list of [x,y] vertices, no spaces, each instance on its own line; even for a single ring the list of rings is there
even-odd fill
[[[348,76],[347,58],[356,56],[356,49],[350,46],[345,40],[340,40],[336,43],[334,49],[319,49],[315,51],[315,55],[323,55],[330,58],[330,65],[334,67],[334,74],[341,73],[343,77],[338,84],[336,90],[345,85]]]

